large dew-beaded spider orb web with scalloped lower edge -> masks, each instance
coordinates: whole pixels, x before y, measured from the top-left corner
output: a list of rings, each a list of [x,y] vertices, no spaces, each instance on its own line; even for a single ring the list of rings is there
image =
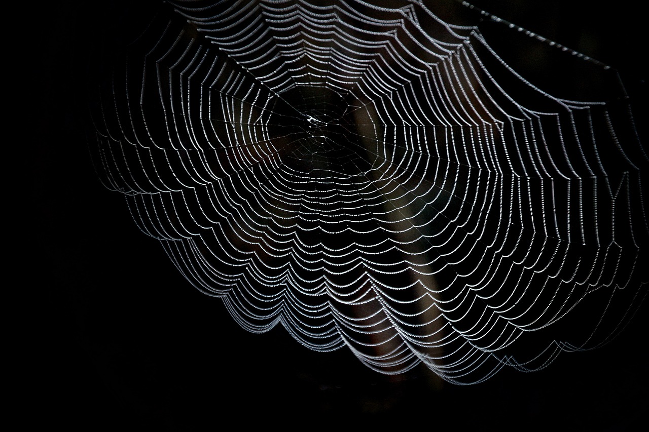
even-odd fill
[[[474,383],[633,315],[626,102],[553,97],[419,1],[173,7],[103,95],[99,173],[243,328]]]

